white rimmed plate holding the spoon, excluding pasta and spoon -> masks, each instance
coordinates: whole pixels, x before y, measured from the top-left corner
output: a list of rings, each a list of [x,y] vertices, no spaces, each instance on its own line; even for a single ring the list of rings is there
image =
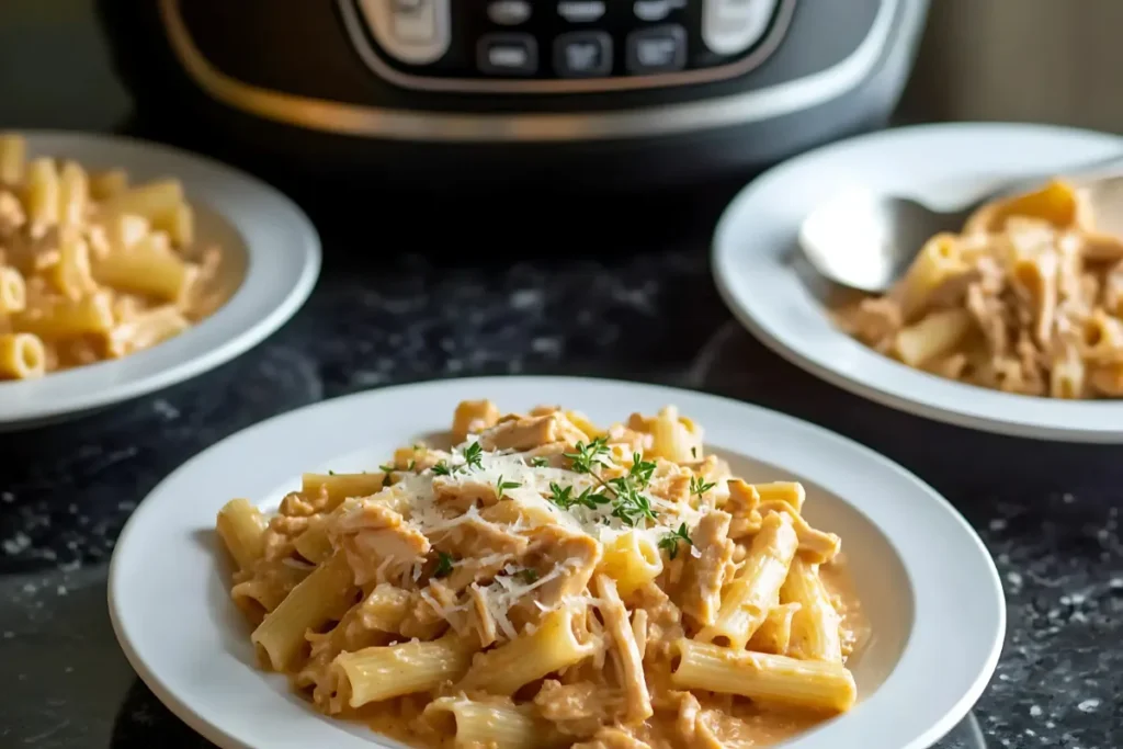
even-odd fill
[[[828,318],[823,287],[797,261],[800,222],[822,201],[864,186],[966,203],[1012,179],[1063,172],[1123,153],[1123,138],[1034,125],[931,125],[844,140],[786,162],[725,209],[713,273],[733,314],[796,365],[910,413],[1020,437],[1123,441],[1123,401],[1001,393],[911,369],[857,342]]]

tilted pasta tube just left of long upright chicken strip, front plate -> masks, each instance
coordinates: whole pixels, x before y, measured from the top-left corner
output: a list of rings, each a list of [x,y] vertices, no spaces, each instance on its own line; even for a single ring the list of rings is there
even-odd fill
[[[568,606],[546,614],[533,632],[522,633],[494,650],[481,654],[459,683],[462,691],[483,689],[509,696],[535,679],[578,664],[593,655],[592,643],[582,643],[574,632]]]

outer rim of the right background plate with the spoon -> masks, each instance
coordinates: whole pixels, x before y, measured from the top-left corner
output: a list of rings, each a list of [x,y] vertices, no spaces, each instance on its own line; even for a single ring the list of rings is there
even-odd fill
[[[772,322],[778,319],[778,313],[769,311],[764,304],[755,303],[751,294],[745,293],[743,287],[740,290],[737,287],[738,276],[743,275],[738,261],[742,261],[743,257],[737,255],[738,245],[734,238],[729,236],[730,226],[740,214],[750,210],[751,203],[768,201],[761,195],[772,181],[805,170],[822,158],[830,158],[847,150],[883,147],[880,144],[903,138],[922,140],[1011,134],[1022,137],[1078,138],[1086,144],[1104,144],[1105,150],[1107,144],[1123,148],[1123,136],[1074,127],[1022,122],[934,122],[859,135],[809,150],[761,173],[742,186],[723,209],[711,237],[710,259],[714,284],[727,309],[755,338],[787,362],[830,385],[897,411],[966,429],[1011,437],[1063,442],[1123,442],[1123,401],[1061,401],[1003,393],[946,380],[877,354],[832,325],[831,341],[838,346],[847,346],[847,353],[861,362],[860,372],[842,372],[832,366],[827,356],[816,356],[809,351],[813,345],[792,342],[788,340],[791,337],[776,332]],[[1006,173],[1012,176],[1016,174],[1012,171]],[[793,238],[794,236],[793,230]],[[766,261],[766,264],[774,265],[772,259]],[[795,275],[791,268],[785,268],[784,273],[788,276]],[[821,311],[821,305],[816,307],[820,307]],[[883,374],[873,378],[860,376],[864,373],[869,374],[870,369],[882,371]],[[933,403],[933,399],[955,405]],[[1049,415],[1041,415],[1042,411]]]

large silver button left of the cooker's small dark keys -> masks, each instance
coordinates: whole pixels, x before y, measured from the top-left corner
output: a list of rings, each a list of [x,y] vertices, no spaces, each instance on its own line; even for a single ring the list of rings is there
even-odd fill
[[[374,39],[411,65],[440,60],[451,42],[450,0],[358,0]]]

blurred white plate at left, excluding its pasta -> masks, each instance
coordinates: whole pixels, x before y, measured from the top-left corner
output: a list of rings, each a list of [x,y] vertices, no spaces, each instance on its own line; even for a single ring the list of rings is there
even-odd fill
[[[124,168],[133,183],[176,177],[195,209],[197,244],[221,247],[212,290],[226,303],[148,350],[29,381],[0,382],[0,430],[76,417],[183,382],[246,351],[308,299],[320,239],[304,212],[248,174],[195,154],[128,138],[28,131],[28,156]]]

